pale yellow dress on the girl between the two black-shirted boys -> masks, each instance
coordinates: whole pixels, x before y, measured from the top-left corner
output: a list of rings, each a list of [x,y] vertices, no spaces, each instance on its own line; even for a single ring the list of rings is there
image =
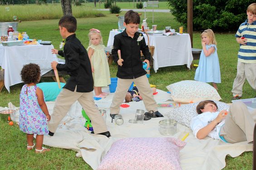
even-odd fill
[[[110,73],[108,67],[108,59],[104,51],[104,45],[90,45],[87,48],[92,48],[94,50],[92,56],[92,65],[94,67],[93,77],[95,87],[105,87],[110,85]]]

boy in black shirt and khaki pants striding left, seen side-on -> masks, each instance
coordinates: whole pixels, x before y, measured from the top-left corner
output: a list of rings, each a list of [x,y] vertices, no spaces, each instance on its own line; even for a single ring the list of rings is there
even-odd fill
[[[94,104],[92,92],[94,80],[91,64],[86,49],[76,38],[76,27],[77,21],[73,16],[65,15],[59,20],[59,33],[62,38],[66,39],[66,42],[63,51],[52,49],[52,53],[64,57],[65,64],[58,64],[58,62],[53,61],[51,67],[54,70],[67,71],[70,78],[56,99],[51,115],[52,119],[48,124],[49,135],[54,135],[59,122],[67,114],[71,105],[78,100],[91,119],[95,134],[110,137],[106,123]]]

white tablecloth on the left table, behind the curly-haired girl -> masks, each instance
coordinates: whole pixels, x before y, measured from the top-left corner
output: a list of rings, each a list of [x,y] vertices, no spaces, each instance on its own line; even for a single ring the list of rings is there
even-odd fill
[[[0,66],[5,69],[5,88],[21,83],[20,71],[25,64],[35,63],[40,66],[41,75],[51,70],[51,62],[58,61],[51,53],[53,45],[23,45],[4,47],[0,44]]]

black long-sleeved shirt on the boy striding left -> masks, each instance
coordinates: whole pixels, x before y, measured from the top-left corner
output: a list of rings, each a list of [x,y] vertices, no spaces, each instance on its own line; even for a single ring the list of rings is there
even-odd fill
[[[77,92],[91,92],[94,90],[94,80],[88,53],[75,34],[66,38],[64,50],[58,54],[65,58],[65,64],[58,64],[58,71],[67,71],[70,78],[65,89]]]

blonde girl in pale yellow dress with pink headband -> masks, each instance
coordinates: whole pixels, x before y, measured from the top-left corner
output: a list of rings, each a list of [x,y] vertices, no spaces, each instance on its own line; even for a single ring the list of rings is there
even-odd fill
[[[94,77],[95,97],[105,98],[108,93],[102,92],[102,87],[110,85],[108,59],[104,51],[101,33],[98,29],[90,29],[88,56],[91,61]]]

